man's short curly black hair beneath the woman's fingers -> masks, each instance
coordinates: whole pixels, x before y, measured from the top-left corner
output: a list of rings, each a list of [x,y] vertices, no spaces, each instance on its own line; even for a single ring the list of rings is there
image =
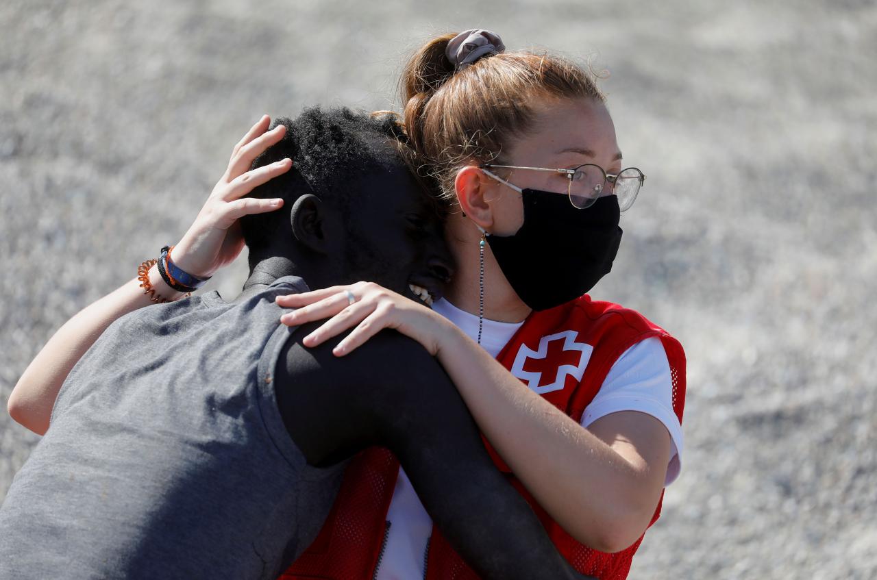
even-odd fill
[[[286,125],[286,135],[255,159],[253,168],[284,158],[292,159],[293,165],[289,172],[253,189],[253,197],[283,198],[283,209],[241,219],[251,252],[268,247],[277,236],[292,235],[289,210],[300,195],[317,195],[346,211],[358,193],[358,177],[413,164],[401,125],[391,115],[314,107],[295,120],[277,118],[272,128],[278,124]]]

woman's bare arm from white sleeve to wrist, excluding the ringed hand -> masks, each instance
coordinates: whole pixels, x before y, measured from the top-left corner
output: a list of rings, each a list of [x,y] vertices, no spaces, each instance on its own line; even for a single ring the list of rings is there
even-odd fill
[[[452,332],[457,336],[441,341],[439,362],[538,504],[592,548],[617,552],[637,541],[667,473],[670,435],[663,423],[624,411],[582,428],[459,329]]]

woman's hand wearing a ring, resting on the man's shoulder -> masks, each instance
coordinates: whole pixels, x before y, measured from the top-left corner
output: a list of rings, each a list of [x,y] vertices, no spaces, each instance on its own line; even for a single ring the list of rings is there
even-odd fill
[[[278,296],[276,302],[283,308],[296,308],[281,316],[287,326],[329,319],[304,337],[305,346],[317,346],[355,326],[332,350],[336,357],[356,349],[381,329],[396,329],[410,336],[435,357],[445,341],[453,340],[456,328],[430,308],[374,282]]]

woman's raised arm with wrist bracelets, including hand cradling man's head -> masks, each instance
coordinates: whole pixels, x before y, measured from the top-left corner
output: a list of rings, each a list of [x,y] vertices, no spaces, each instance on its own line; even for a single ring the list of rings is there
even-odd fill
[[[274,211],[282,206],[282,200],[243,198],[254,187],[286,173],[292,166],[289,159],[284,159],[248,171],[253,159],[283,138],[285,127],[278,125],[275,130],[267,131],[269,123],[267,116],[262,117],[235,145],[225,174],[180,244],[175,246],[174,262],[182,270],[210,276],[220,267],[232,263],[244,247],[238,218]],[[149,280],[162,298],[171,301],[182,296],[165,284],[156,266],[150,269]],[[18,379],[7,403],[11,417],[33,432],[44,435],[61,385],[82,355],[111,322],[152,303],[135,278],[65,322]]]

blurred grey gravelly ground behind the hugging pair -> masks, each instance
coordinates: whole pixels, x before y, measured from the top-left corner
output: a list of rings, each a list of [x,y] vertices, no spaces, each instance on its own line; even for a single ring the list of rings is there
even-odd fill
[[[682,475],[631,578],[877,577],[873,2],[4,0],[0,23],[4,402],[262,113],[394,108],[424,39],[487,27],[608,71],[648,175],[592,293],[688,351]],[[0,413],[0,499],[38,439]]]

